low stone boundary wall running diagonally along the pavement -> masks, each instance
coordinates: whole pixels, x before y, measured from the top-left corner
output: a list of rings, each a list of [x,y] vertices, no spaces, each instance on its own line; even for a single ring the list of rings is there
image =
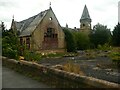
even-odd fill
[[[65,86],[63,87],[69,87],[70,85],[73,85],[72,87],[97,87],[97,88],[118,88],[120,87],[120,84],[108,82],[105,80],[96,79],[93,77],[87,77],[87,76],[80,76],[78,74],[69,73],[63,70],[58,70],[55,68],[49,68],[44,65],[35,63],[35,62],[28,62],[28,61],[16,61],[14,59],[8,59],[6,57],[2,57],[3,65],[10,67],[12,69],[17,69],[19,72],[29,72],[29,74],[32,76],[38,76],[38,77],[44,77],[46,81],[52,80],[53,82],[56,82],[57,84],[62,83]],[[60,78],[60,79],[59,79]],[[43,80],[44,82],[46,82]],[[51,81],[51,83],[52,83]],[[60,86],[58,86],[60,87]]]

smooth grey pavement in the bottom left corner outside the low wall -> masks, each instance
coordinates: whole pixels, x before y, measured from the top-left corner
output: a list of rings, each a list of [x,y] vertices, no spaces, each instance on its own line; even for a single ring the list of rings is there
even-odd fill
[[[49,88],[49,86],[2,67],[2,88]]]

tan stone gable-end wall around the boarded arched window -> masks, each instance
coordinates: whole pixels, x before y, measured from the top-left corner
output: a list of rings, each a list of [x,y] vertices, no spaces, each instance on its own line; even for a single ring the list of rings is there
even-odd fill
[[[52,20],[49,20],[50,18],[52,18]],[[47,28],[54,28],[55,30],[55,34],[57,34],[57,40],[55,42],[55,40],[50,40],[47,43],[44,44],[44,33],[47,32]],[[52,45],[53,43],[55,43],[55,45]],[[48,47],[45,47],[45,46]],[[49,47],[51,46],[51,47]],[[56,47],[56,48],[52,48],[52,47]],[[61,26],[59,25],[59,22],[57,21],[57,18],[54,14],[54,12],[49,9],[49,11],[47,12],[47,14],[45,15],[45,17],[43,18],[43,20],[38,24],[38,26],[36,27],[36,29],[34,30],[33,34],[32,34],[32,47],[36,50],[36,51],[41,51],[41,50],[52,50],[52,49],[64,49],[65,48],[65,35],[64,32],[61,28]]]

